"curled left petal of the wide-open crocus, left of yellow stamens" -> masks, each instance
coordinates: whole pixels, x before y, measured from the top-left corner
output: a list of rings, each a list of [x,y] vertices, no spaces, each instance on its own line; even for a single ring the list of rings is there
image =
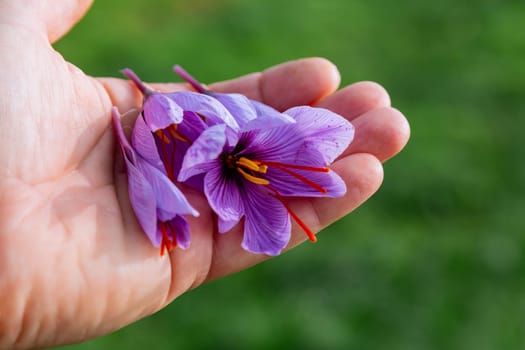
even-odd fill
[[[226,143],[226,125],[218,124],[204,130],[186,151],[178,181],[220,167],[218,157]]]

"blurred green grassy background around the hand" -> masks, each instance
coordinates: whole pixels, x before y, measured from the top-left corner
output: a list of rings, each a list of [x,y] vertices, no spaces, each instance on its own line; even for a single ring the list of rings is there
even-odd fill
[[[63,349],[525,348],[522,0],[99,0],[56,48],[149,81],[324,56],[412,126],[383,187],[318,244]]]

